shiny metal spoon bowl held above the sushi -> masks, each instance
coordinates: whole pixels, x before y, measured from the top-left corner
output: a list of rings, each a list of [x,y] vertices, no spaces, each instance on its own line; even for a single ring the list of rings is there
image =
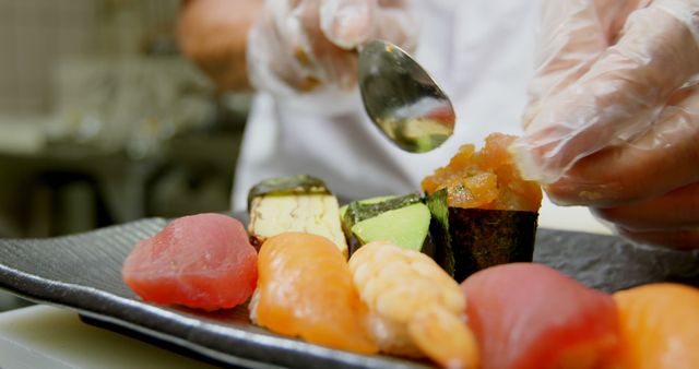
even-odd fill
[[[391,43],[372,40],[359,49],[359,91],[371,121],[406,152],[437,148],[454,131],[454,109],[447,94]]]

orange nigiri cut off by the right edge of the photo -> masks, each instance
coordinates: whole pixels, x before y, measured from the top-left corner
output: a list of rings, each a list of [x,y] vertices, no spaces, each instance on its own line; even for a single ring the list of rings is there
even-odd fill
[[[614,294],[625,369],[699,368],[699,289],[671,283]]]

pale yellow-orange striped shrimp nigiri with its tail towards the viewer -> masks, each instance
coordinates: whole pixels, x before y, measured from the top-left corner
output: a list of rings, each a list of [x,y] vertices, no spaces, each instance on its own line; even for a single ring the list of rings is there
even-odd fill
[[[389,241],[350,258],[367,324],[381,352],[427,356],[446,368],[476,368],[475,336],[465,324],[466,297],[433,259]]]

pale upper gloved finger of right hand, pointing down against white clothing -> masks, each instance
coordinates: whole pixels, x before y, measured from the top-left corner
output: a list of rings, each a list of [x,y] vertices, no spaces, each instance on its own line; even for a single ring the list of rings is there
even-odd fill
[[[542,100],[560,93],[616,44],[631,11],[649,0],[546,0],[542,3],[536,71],[529,87],[524,126]]]

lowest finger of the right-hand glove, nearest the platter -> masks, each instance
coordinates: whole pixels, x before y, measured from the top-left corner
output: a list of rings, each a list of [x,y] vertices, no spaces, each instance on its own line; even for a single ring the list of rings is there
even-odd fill
[[[591,211],[629,231],[699,230],[699,182],[644,202]]]

